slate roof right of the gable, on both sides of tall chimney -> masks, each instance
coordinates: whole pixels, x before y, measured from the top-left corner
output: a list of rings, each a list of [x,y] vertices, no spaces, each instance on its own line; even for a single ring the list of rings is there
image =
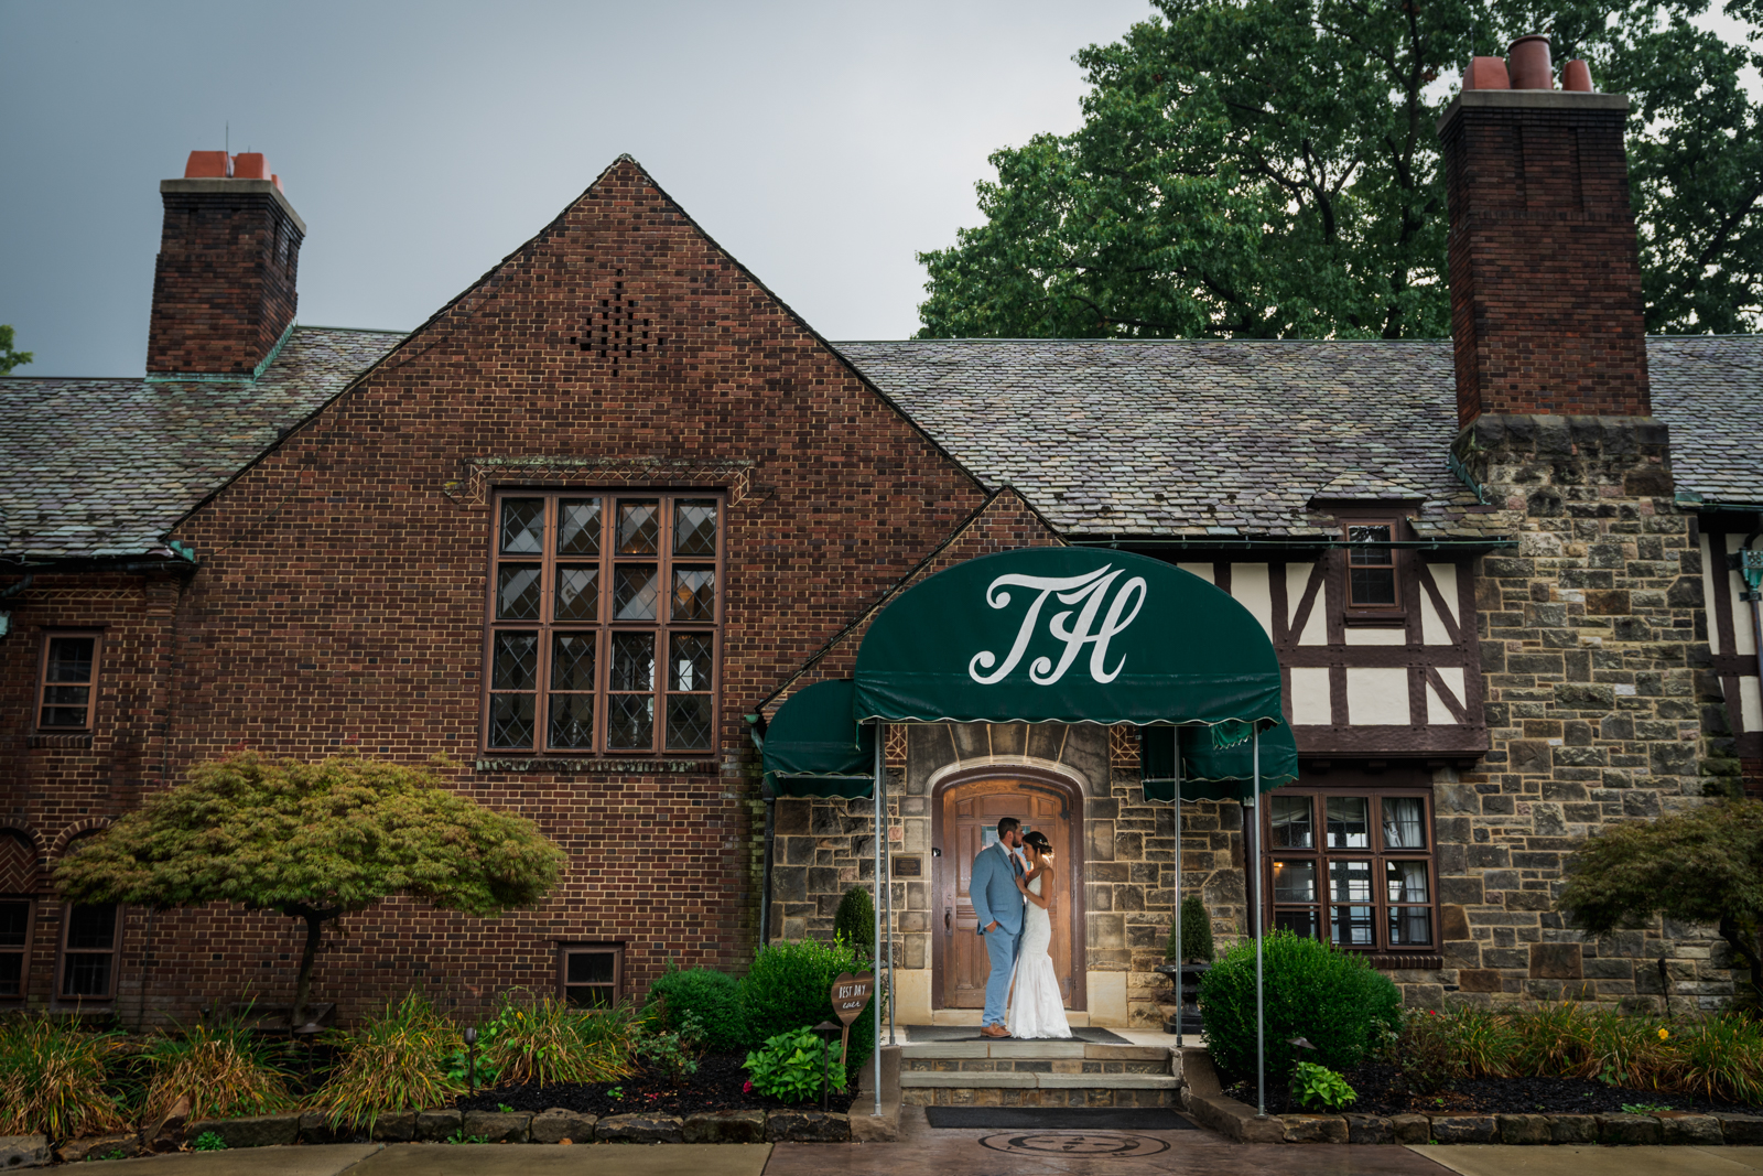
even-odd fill
[[[989,487],[1074,536],[1319,534],[1312,499],[1419,499],[1481,534],[1444,464],[1449,340],[834,344]],[[1680,488],[1763,502],[1763,337],[1650,339]]]

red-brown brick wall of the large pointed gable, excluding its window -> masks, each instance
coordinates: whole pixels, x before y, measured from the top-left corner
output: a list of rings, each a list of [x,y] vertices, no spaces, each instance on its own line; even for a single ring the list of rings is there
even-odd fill
[[[643,321],[649,351],[628,333]],[[497,485],[728,495],[714,758],[654,772],[501,758],[480,770]],[[668,959],[740,970],[760,836],[740,714],[984,502],[626,159],[176,527],[201,571],[175,645],[155,647],[175,659],[166,774],[245,748],[450,755],[451,788],[532,818],[569,853],[534,912],[480,922],[391,901],[347,917],[347,936],[326,936],[314,991],[344,1019],[411,987],[467,1012],[510,986],[548,989],[559,940],[626,943],[636,993]],[[1017,513],[996,541],[1040,525]],[[79,785],[93,813],[132,802],[106,790],[109,770],[97,756],[44,765],[0,783],[0,797],[53,837],[79,774],[95,778]],[[145,924],[129,934],[145,940]],[[152,961],[141,950],[123,964],[145,986],[125,1012],[139,1000],[150,1019],[189,1017],[242,989],[287,1000],[296,924],[231,908],[159,915]],[[33,964],[42,984],[48,966]]]

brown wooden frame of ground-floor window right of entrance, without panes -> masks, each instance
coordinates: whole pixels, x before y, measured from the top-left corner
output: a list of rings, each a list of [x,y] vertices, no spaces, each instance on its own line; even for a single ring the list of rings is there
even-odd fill
[[[1273,797],[1308,797],[1310,799],[1310,820],[1312,820],[1312,848],[1292,850],[1273,845]],[[1363,850],[1329,850],[1328,841],[1328,800],[1331,797],[1365,797],[1370,804],[1370,845]],[[1419,850],[1410,848],[1387,848],[1384,846],[1384,822],[1382,809],[1386,799],[1419,799],[1423,808],[1423,822],[1426,829],[1426,846]],[[1439,922],[1439,836],[1435,830],[1433,818],[1433,797],[1432,790],[1425,786],[1375,786],[1375,785],[1289,785],[1285,788],[1276,788],[1262,797],[1257,806],[1261,820],[1261,845],[1266,846],[1261,853],[1261,871],[1259,882],[1262,887],[1261,904],[1264,926],[1276,927],[1278,915],[1287,910],[1313,910],[1317,915],[1317,931],[1324,943],[1333,942],[1329,922],[1329,906],[1336,906],[1328,894],[1328,864],[1331,860],[1370,860],[1372,862],[1372,942],[1370,943],[1338,943],[1342,950],[1359,952],[1365,956],[1379,957],[1402,957],[1402,956],[1439,956],[1444,950],[1442,934],[1444,929]],[[1275,897],[1273,889],[1273,866],[1275,859],[1280,860],[1312,860],[1315,862],[1315,885],[1317,897],[1312,903],[1280,903]],[[1391,903],[1386,882],[1386,862],[1426,862],[1426,903]],[[1389,943],[1389,908],[1425,908],[1428,912],[1428,920],[1432,927],[1432,943]]]

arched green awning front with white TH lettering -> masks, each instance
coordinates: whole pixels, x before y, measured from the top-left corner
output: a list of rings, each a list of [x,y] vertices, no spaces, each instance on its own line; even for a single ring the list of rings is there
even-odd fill
[[[908,589],[857,652],[857,721],[1280,723],[1261,622],[1146,555],[1040,547]]]

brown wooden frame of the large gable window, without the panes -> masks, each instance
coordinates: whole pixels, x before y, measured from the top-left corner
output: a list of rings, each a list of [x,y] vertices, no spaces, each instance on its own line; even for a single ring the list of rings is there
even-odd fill
[[[502,548],[502,506],[510,499],[543,499],[545,502],[545,524],[541,550],[531,552],[513,552],[504,554]],[[571,557],[557,554],[557,520],[559,520],[559,502],[569,499],[599,499],[601,515],[601,541],[599,554],[591,557]],[[621,502],[636,501],[658,501],[661,504],[659,531],[661,541],[656,545],[658,550],[652,555],[624,555],[617,552],[617,520]],[[677,555],[673,554],[673,525],[677,504],[682,501],[707,501],[716,502],[716,552],[714,555]],[[721,742],[721,691],[719,682],[723,675],[723,624],[725,624],[725,594],[726,594],[726,552],[728,552],[728,497],[719,490],[707,488],[684,488],[684,490],[661,490],[661,488],[577,488],[577,490],[559,490],[552,487],[501,487],[492,495],[490,506],[490,561],[488,561],[488,584],[487,584],[487,601],[485,601],[485,649],[483,649],[483,691],[481,705],[483,716],[480,725],[480,748],[487,756],[510,756],[510,755],[534,755],[534,756],[569,756],[569,758],[612,758],[612,760],[631,760],[631,758],[714,758],[718,746]],[[557,578],[559,566],[585,566],[592,562],[598,568],[598,605],[594,621],[557,621],[555,619],[555,601],[557,601]],[[539,573],[539,617],[538,619],[501,619],[497,615],[499,605],[499,582],[501,566],[504,564],[538,564]],[[619,621],[614,617],[612,594],[617,580],[619,566],[631,564],[654,564],[656,566],[656,617],[649,621]],[[686,568],[710,568],[716,587],[712,592],[712,619],[710,621],[675,621],[670,615],[670,601],[673,599],[673,569],[675,566]],[[492,741],[492,712],[495,693],[508,693],[495,689],[495,654],[497,654],[497,636],[501,633],[538,633],[538,651],[534,666],[534,689],[532,689],[532,737],[522,746],[502,746]],[[568,633],[592,633],[594,635],[594,716],[592,716],[592,735],[587,748],[566,748],[550,746],[550,705],[548,700],[554,693],[552,689],[552,658],[554,658],[554,638]],[[608,737],[608,712],[612,707],[614,691],[612,689],[612,647],[621,633],[652,633],[656,642],[654,658],[654,681],[649,689],[649,696],[654,698],[654,719],[651,728],[651,741],[647,748],[614,748]],[[710,652],[710,674],[709,689],[695,691],[677,691],[672,684],[672,656],[670,649],[675,636],[703,635],[709,642]],[[524,691],[520,691],[524,693]],[[580,691],[587,693],[587,691]],[[698,695],[709,698],[709,746],[703,748],[682,748],[668,742],[670,723],[668,723],[668,700],[679,695]]]

